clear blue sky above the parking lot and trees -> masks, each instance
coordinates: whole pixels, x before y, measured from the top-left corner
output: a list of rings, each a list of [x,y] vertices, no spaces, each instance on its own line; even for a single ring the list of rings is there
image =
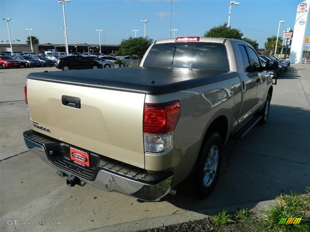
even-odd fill
[[[174,0],[172,29],[175,36],[203,36],[214,26],[228,22],[229,0]],[[287,27],[293,28],[297,6],[302,0],[236,0],[232,6],[231,27],[264,47],[267,37],[276,36],[280,20],[280,36]],[[169,37],[170,0],[71,0],[65,3],[68,43],[119,44],[122,39],[137,36],[153,39]],[[64,43],[62,4],[57,0],[0,0],[0,18],[11,18],[11,39],[26,40],[31,35],[40,43]],[[310,36],[308,23],[306,36]],[[171,37],[173,34],[171,33]],[[7,23],[1,20],[0,40],[8,40]],[[16,42],[12,42],[13,44]],[[25,42],[23,42],[25,43]]]

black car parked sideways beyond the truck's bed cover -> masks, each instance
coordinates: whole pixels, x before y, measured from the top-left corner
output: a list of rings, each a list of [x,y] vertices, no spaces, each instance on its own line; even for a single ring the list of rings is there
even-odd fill
[[[102,64],[93,61],[91,59],[87,59],[83,56],[67,56],[60,59],[60,62],[56,66],[56,68],[68,71],[70,69],[96,69],[102,68]]]

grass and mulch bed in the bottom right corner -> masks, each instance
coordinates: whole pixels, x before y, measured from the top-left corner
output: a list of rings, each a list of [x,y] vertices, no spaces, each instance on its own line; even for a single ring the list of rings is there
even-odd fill
[[[302,218],[299,224],[279,224],[281,218]],[[223,210],[213,217],[141,232],[310,232],[310,187],[306,194],[280,195],[267,210],[242,208],[234,214]]]

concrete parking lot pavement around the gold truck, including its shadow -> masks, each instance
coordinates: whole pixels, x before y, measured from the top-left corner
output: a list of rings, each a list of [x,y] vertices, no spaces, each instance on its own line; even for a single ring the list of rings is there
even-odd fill
[[[1,231],[142,230],[162,225],[166,216],[173,215],[170,223],[175,223],[234,205],[254,207],[310,186],[309,64],[291,65],[279,77],[266,125],[255,126],[242,140],[229,140],[224,169],[203,201],[186,191],[158,202],[141,202],[89,185],[66,186],[54,168],[28,151],[22,136],[30,128],[24,104],[26,75],[44,70],[57,71],[55,67],[0,69]],[[152,219],[156,217],[157,222]]]

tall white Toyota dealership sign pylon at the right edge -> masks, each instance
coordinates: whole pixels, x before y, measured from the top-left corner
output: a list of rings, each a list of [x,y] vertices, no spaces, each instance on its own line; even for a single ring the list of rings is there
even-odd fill
[[[304,37],[308,23],[310,0],[301,2],[297,6],[294,34],[290,50],[290,62],[300,63],[303,55]]]

